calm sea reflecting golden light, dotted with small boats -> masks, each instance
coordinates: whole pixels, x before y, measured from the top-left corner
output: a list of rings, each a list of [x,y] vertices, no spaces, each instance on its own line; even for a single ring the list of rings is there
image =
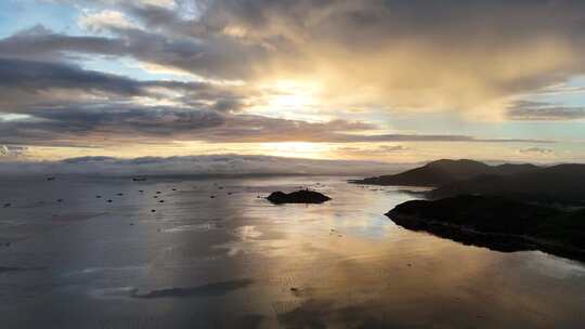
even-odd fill
[[[347,179],[3,177],[0,328],[585,326],[583,263],[403,229],[412,194]],[[263,199],[301,186],[333,200]]]

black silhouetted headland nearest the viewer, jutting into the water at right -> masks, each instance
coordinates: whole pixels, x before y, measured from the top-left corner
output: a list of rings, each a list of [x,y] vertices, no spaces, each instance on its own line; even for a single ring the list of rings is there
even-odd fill
[[[543,250],[585,260],[585,209],[561,210],[498,196],[412,200],[387,214],[398,225],[499,251]]]

